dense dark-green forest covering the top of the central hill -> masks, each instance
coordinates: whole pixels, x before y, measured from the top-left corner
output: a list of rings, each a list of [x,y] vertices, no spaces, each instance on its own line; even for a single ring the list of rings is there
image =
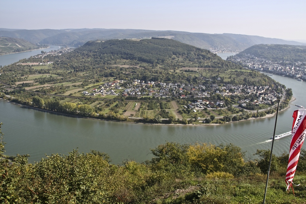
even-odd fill
[[[222,61],[216,54],[195,46],[171,39],[153,38],[134,40],[108,40],[105,42],[88,42],[75,50],[77,53],[111,54],[122,59],[137,60],[147,63],[162,64],[171,60],[173,55],[185,56],[189,61]]]

